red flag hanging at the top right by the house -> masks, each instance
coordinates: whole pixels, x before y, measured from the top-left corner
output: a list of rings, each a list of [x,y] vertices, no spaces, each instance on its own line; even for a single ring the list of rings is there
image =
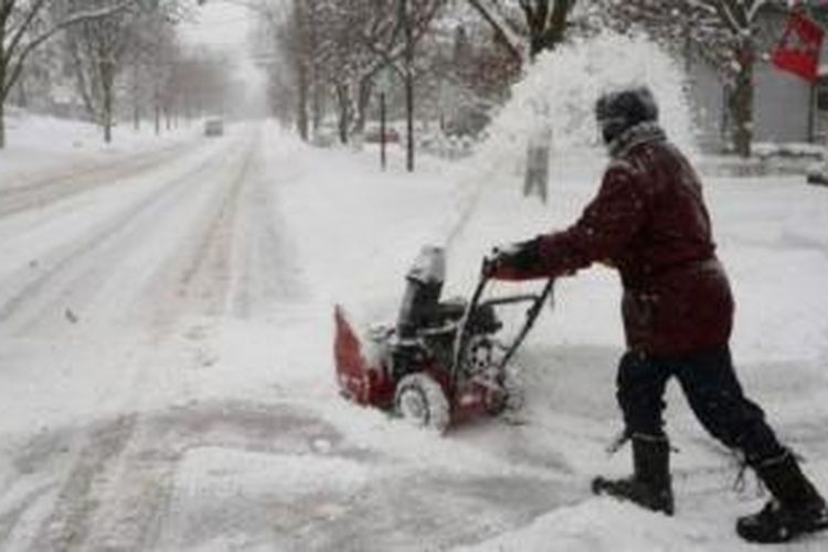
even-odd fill
[[[825,31],[802,11],[788,18],[785,33],[771,54],[771,62],[783,71],[789,71],[814,82],[819,73],[819,51],[822,49]]]

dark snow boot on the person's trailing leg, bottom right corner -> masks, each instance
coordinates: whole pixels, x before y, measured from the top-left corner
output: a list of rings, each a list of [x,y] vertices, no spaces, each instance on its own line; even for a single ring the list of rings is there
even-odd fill
[[[749,542],[787,542],[799,534],[828,529],[825,499],[799,469],[789,452],[755,466],[773,495],[765,507],[740,518],[736,532]]]

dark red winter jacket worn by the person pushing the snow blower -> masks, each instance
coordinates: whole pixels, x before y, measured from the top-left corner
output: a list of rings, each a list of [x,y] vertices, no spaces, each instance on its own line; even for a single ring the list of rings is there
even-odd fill
[[[696,171],[654,124],[614,146],[581,219],[540,236],[541,272],[554,276],[596,261],[617,267],[631,350],[672,355],[726,343],[733,298]]]

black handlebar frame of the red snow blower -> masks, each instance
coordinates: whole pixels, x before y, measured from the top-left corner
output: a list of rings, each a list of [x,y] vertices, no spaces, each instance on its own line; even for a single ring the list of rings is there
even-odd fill
[[[463,314],[463,318],[460,319],[459,327],[457,330],[457,337],[455,341],[455,348],[454,348],[454,363],[453,363],[453,369],[452,369],[453,379],[457,378],[457,373],[461,364],[463,357],[468,346],[469,321],[474,318],[475,311],[487,306],[496,307],[500,305],[531,302],[531,305],[529,306],[529,309],[527,309],[527,316],[523,321],[523,327],[520,329],[520,331],[518,332],[512,343],[507,348],[506,354],[503,354],[503,358],[500,361],[500,365],[498,367],[499,369],[505,369],[506,365],[511,361],[512,357],[514,355],[514,353],[517,352],[518,348],[521,346],[526,337],[529,335],[529,331],[534,326],[534,322],[541,312],[541,308],[543,307],[543,304],[554,293],[555,280],[554,278],[550,278],[546,282],[546,284],[543,286],[543,289],[541,290],[540,294],[521,294],[521,295],[512,295],[512,296],[497,297],[492,299],[481,300],[482,293],[486,289],[486,286],[489,283],[489,280],[491,280],[491,274],[492,274],[491,265],[492,265],[491,258],[489,257],[484,258],[482,266],[480,269],[480,279],[477,283],[477,287],[475,288],[474,294],[471,294],[471,299],[466,306],[466,310]]]

